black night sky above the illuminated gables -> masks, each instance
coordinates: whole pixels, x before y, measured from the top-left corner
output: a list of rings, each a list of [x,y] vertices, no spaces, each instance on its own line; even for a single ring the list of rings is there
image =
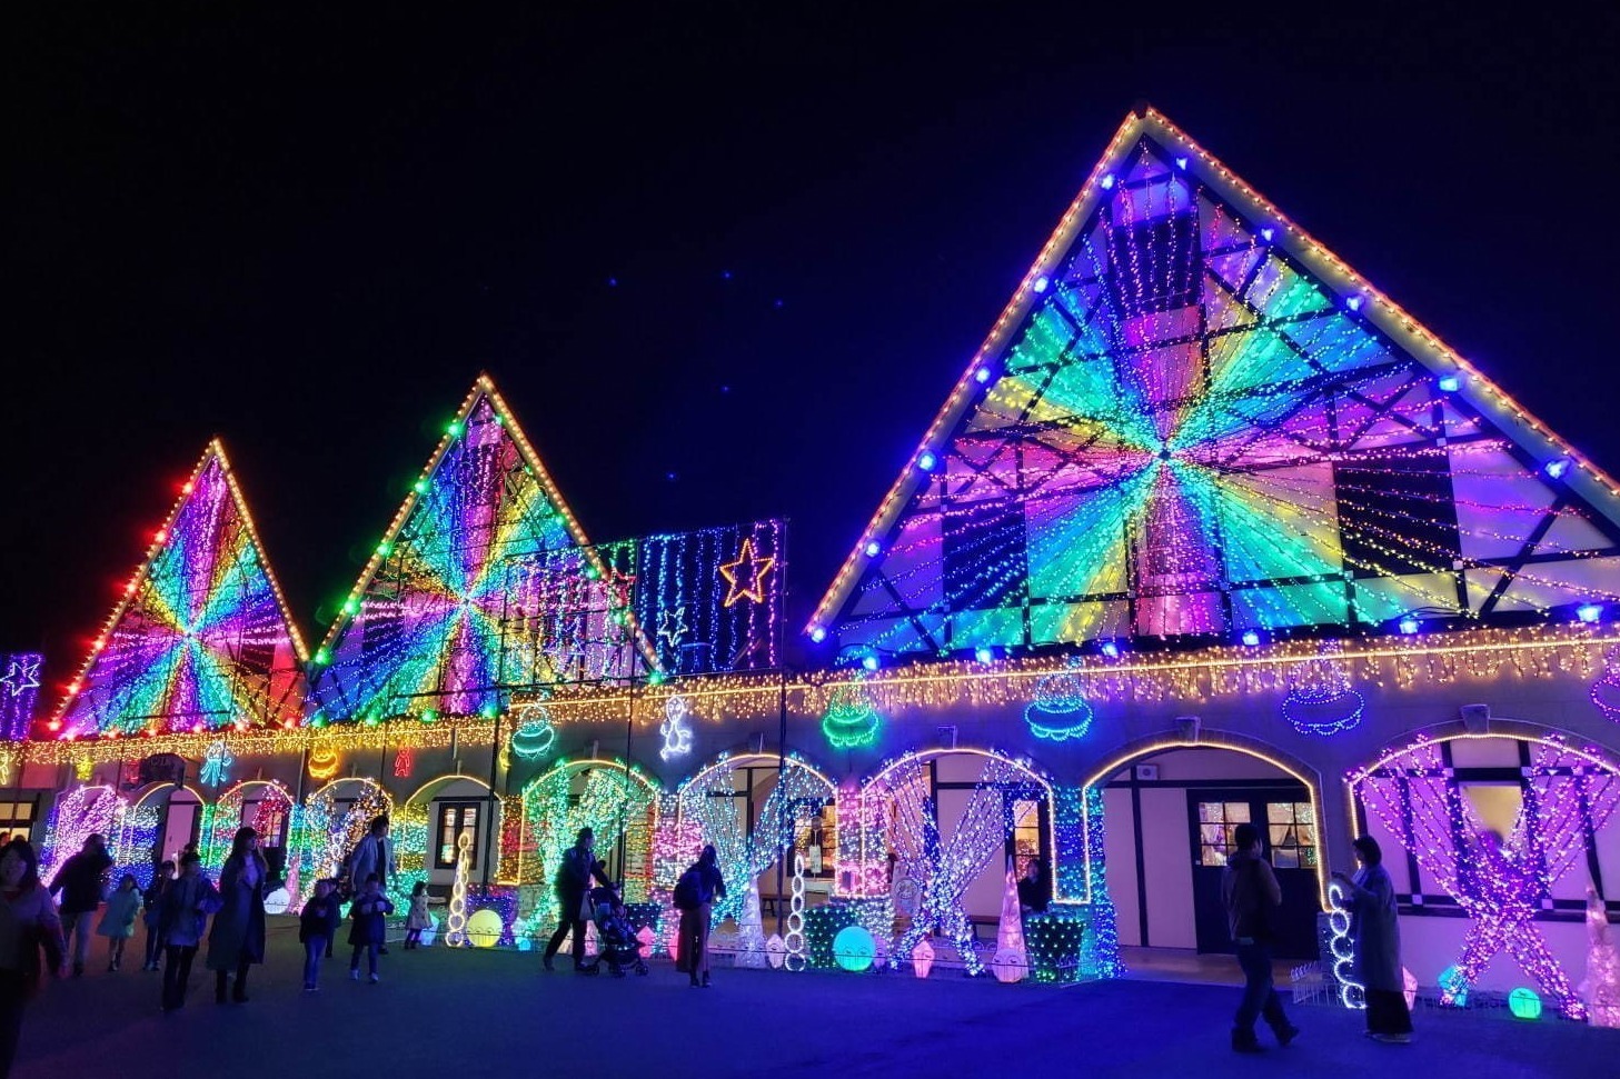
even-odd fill
[[[57,680],[215,433],[318,638],[480,369],[593,538],[791,517],[797,619],[1137,99],[1620,470],[1614,15],[60,6],[0,45]]]

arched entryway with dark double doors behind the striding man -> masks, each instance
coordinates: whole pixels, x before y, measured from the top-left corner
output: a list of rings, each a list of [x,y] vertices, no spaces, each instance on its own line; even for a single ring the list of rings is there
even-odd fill
[[[1102,792],[1121,946],[1230,954],[1220,878],[1233,831],[1252,823],[1283,889],[1273,956],[1317,957],[1327,857],[1314,770],[1246,739],[1204,734],[1124,747],[1085,786]]]

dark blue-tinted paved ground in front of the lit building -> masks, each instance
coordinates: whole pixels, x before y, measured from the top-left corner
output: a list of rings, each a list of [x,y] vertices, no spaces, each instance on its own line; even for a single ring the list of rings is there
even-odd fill
[[[1226,1048],[1234,990],[1210,985],[719,969],[705,992],[667,962],[645,979],[586,979],[544,975],[533,954],[395,946],[381,985],[348,982],[340,957],[322,992],[305,995],[298,961],[295,936],[277,928],[249,1003],[215,1004],[212,975],[199,972],[190,1004],[170,1017],[157,1009],[156,974],[92,970],[53,983],[29,1009],[13,1074],[1620,1076],[1620,1030],[1468,1013],[1421,1013],[1418,1042],[1401,1048],[1359,1037],[1358,1014],[1298,1008],[1299,1042],[1238,1056]]]

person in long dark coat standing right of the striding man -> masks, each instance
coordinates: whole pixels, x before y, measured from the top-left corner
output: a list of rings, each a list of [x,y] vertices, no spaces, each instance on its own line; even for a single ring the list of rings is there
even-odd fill
[[[1413,1040],[1413,1016],[1406,1008],[1401,972],[1401,925],[1395,914],[1395,881],[1383,868],[1383,851],[1372,836],[1353,844],[1361,868],[1356,875],[1333,873],[1349,899],[1349,940],[1356,948],[1351,972],[1367,996],[1367,1037],[1390,1045]]]

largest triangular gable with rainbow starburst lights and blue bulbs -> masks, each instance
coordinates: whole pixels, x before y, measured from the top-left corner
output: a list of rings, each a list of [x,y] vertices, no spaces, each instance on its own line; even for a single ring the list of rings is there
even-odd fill
[[[1592,617],[1614,481],[1152,110],[816,609],[956,653]]]

